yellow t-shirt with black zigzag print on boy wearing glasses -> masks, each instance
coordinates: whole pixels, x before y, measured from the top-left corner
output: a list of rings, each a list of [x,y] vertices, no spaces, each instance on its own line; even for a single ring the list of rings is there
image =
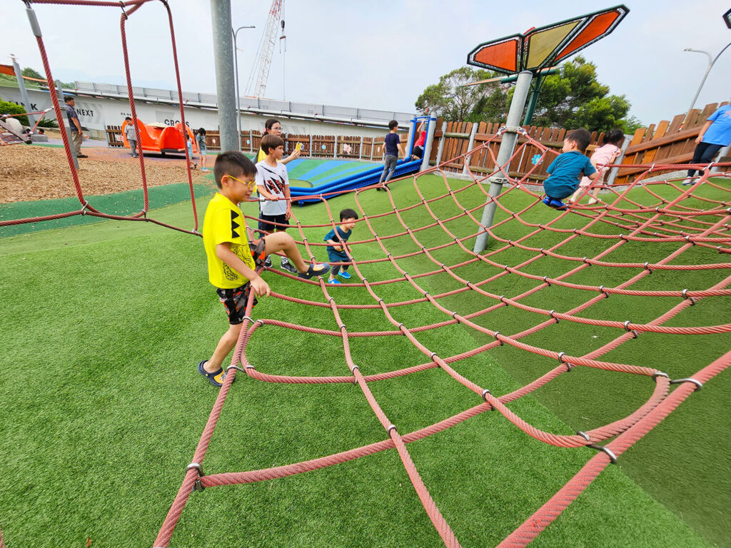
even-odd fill
[[[216,192],[216,196],[208,202],[203,220],[203,247],[208,257],[208,280],[221,289],[236,289],[249,280],[216,255],[216,246],[224,242],[230,243],[231,251],[246,266],[251,270],[256,269],[254,257],[251,256],[249,249],[249,240],[246,237],[246,221],[243,213],[238,205]]]

